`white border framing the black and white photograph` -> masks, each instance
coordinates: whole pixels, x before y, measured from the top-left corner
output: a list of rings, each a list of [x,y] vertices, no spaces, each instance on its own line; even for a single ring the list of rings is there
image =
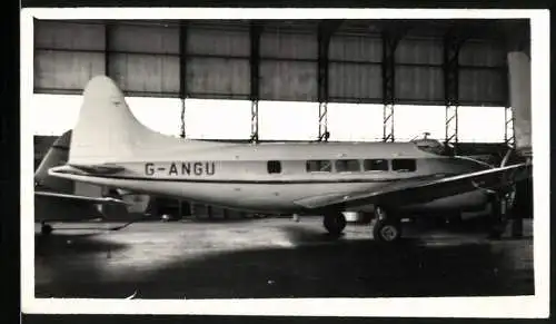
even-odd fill
[[[530,19],[535,295],[516,297],[88,300],[34,297],[33,19]],[[21,11],[21,310],[27,314],[513,317],[549,315],[549,11],[512,9],[51,8]]]

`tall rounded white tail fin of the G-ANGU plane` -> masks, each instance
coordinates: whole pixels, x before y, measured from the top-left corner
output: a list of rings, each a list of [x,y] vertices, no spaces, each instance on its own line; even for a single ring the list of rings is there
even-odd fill
[[[136,119],[123,94],[106,76],[92,78],[83,90],[83,101],[70,145],[71,165],[96,165],[137,156],[141,144],[165,137]]]

